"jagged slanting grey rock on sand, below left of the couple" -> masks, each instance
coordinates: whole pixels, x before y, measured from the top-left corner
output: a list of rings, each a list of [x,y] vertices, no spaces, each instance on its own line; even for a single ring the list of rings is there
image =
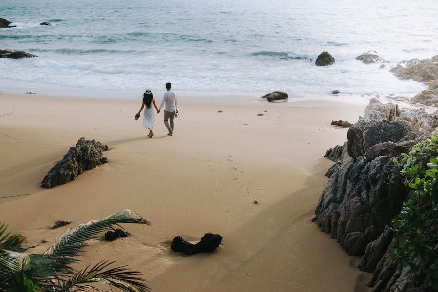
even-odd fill
[[[102,157],[102,151],[108,146],[96,141],[80,138],[75,147],[71,147],[55,166],[49,171],[41,182],[41,187],[52,188],[59,184],[68,183],[85,170],[90,170],[97,165],[107,163]]]

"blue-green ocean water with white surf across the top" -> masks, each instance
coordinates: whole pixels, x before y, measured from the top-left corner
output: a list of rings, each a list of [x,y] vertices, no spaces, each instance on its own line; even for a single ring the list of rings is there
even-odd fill
[[[389,68],[438,54],[435,0],[2,0],[0,89],[38,83],[82,89],[418,93]],[[41,26],[49,21],[52,26]],[[365,65],[375,50],[388,60]],[[317,67],[329,51],[336,64]]]

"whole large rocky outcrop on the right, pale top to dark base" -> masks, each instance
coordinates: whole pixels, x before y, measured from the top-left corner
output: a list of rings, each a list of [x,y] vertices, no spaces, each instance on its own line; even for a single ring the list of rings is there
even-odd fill
[[[390,258],[394,234],[388,225],[408,196],[402,183],[390,180],[392,159],[430,138],[428,133],[413,131],[402,119],[406,112],[395,104],[372,100],[366,118],[349,128],[342,153],[339,155],[340,146],[327,151],[326,157],[335,164],[326,173],[330,179],[313,219],[349,255],[362,256],[358,268],[373,273],[368,286],[374,292],[430,288],[426,288],[429,280],[419,279],[409,266],[395,264]]]

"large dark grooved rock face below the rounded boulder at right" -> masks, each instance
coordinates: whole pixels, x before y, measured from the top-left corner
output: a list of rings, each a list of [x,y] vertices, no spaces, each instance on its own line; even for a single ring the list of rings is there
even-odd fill
[[[346,146],[345,146],[346,147]],[[344,151],[346,152],[346,151]],[[392,158],[341,160],[318,202],[314,221],[348,254],[360,256],[399,211],[406,193],[389,183]]]

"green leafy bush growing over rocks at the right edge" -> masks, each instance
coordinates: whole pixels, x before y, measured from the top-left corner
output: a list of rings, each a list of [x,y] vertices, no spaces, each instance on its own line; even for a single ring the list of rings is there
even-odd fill
[[[414,271],[424,269],[432,285],[438,288],[438,137],[413,146],[397,162],[410,199],[392,220],[396,231],[391,248],[392,259],[410,265]]]

